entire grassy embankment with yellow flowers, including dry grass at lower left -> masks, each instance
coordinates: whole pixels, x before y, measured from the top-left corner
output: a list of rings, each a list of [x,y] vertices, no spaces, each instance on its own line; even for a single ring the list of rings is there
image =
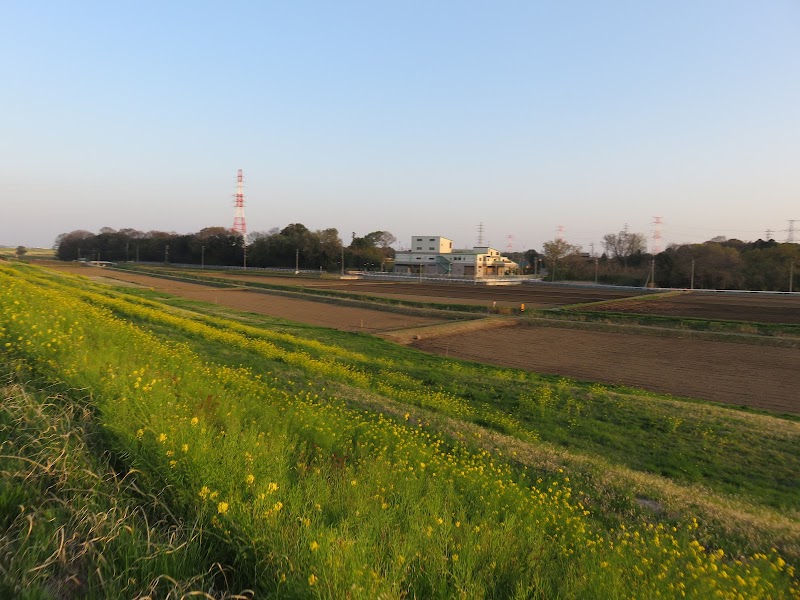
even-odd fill
[[[797,419],[276,316],[0,263],[1,597],[800,597]]]

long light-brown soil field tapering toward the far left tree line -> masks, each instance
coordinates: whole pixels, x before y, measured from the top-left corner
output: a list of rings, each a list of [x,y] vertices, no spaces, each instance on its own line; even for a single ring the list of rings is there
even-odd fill
[[[126,282],[127,284],[138,284],[159,292],[174,294],[183,298],[210,302],[212,304],[221,304],[237,310],[280,317],[282,319],[297,321],[298,323],[331,327],[340,331],[376,333],[379,331],[390,331],[393,329],[403,329],[406,327],[417,327],[420,325],[431,325],[442,322],[439,319],[427,317],[400,315],[358,307],[350,308],[247,290],[213,288],[198,283],[172,281],[160,277],[125,273],[124,271],[82,266],[49,265],[49,268],[58,271],[77,273],[78,275],[97,279],[104,283],[111,283],[109,280],[113,279]]]

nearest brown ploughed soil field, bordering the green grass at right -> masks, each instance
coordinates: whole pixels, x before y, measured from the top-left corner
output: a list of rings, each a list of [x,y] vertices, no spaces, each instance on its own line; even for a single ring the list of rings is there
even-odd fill
[[[796,348],[524,325],[412,345],[537,373],[800,414]]]

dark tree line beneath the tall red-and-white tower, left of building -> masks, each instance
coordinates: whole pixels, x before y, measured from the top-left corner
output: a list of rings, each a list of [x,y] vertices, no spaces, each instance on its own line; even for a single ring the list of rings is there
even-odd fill
[[[364,236],[353,233],[345,246],[336,229],[309,230],[293,223],[283,229],[255,232],[244,238],[225,227],[206,227],[197,233],[114,230],[99,233],[77,230],[63,233],[54,245],[59,260],[107,260],[112,262],[165,262],[208,266],[295,267],[320,269],[381,269],[394,257],[388,231]],[[246,254],[245,254],[246,252]],[[342,262],[344,260],[344,262]]]

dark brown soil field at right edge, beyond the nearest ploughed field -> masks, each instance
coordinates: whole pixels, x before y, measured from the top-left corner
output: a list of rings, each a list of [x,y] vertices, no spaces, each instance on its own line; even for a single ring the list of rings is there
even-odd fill
[[[800,294],[686,292],[647,300],[607,302],[582,310],[800,325]]]

